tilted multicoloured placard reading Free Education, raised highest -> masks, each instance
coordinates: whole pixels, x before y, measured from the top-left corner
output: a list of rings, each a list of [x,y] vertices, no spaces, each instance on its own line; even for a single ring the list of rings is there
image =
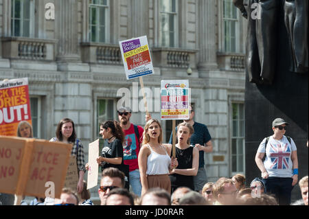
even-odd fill
[[[120,41],[119,46],[127,80],[154,73],[147,36]]]

